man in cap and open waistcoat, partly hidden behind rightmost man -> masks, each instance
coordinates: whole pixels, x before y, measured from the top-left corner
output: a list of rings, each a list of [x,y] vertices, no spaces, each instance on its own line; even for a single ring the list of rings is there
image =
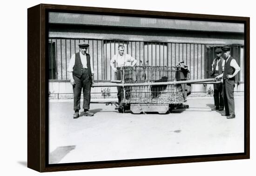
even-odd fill
[[[212,77],[216,77],[220,74],[222,74],[223,70],[224,70],[224,65],[225,65],[225,60],[222,58],[222,50],[220,48],[217,48],[215,50],[216,52],[216,58],[213,60],[212,63],[212,73],[211,76]],[[221,78],[219,78],[217,81],[221,81]],[[224,101],[223,101],[223,97],[222,97],[222,84],[214,84],[214,93],[213,93],[213,97],[214,97],[214,104],[215,107],[212,108],[212,111],[223,111],[224,109]]]

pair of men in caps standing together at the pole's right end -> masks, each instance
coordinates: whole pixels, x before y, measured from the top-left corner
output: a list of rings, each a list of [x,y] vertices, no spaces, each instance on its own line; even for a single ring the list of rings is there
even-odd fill
[[[222,58],[222,51],[224,59]],[[234,87],[235,76],[240,71],[236,60],[230,56],[230,47],[226,46],[222,49],[215,50],[216,58],[212,63],[212,74],[220,84],[214,84],[214,104],[212,111],[223,111],[222,116],[227,116],[228,119],[235,118],[235,102],[234,102]]]

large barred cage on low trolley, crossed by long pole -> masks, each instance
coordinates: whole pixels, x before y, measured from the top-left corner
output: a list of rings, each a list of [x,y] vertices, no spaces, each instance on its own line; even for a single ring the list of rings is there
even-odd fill
[[[186,80],[179,66],[124,66],[122,83],[145,83],[145,86],[127,86],[122,89],[121,103],[178,104],[185,100],[182,85],[146,85],[149,82]]]

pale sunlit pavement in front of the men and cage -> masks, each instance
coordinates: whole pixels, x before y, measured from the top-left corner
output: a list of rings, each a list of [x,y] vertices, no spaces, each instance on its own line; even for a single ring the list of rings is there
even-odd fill
[[[235,98],[234,119],[211,111],[213,101],[189,98],[189,109],[164,115],[91,104],[94,116],[78,119],[72,117],[73,102],[50,101],[49,163],[243,152],[244,98]]]

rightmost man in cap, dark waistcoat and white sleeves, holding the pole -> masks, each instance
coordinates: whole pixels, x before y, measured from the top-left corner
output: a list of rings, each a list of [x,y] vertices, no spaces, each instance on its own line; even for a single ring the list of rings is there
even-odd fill
[[[223,77],[223,98],[225,113],[223,113],[222,116],[227,116],[227,118],[235,118],[235,76],[240,71],[240,67],[236,63],[236,60],[230,56],[230,48],[228,46],[223,47],[222,51],[226,60],[224,71],[221,75],[215,78],[218,79]]]

